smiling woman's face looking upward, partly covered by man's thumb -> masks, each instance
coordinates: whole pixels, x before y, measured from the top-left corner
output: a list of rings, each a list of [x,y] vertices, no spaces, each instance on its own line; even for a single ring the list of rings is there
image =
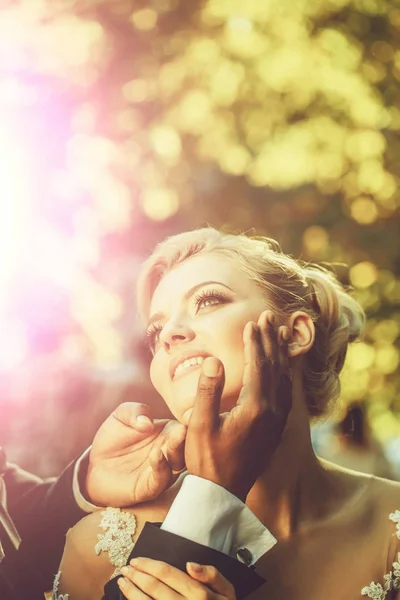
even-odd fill
[[[215,356],[225,369],[221,412],[236,404],[243,329],[267,308],[259,286],[229,257],[198,254],[163,277],[150,306],[150,378],[179,421],[188,422],[205,356]]]

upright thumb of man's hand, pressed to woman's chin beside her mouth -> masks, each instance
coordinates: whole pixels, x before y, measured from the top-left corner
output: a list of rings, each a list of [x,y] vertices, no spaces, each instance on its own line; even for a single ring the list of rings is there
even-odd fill
[[[224,388],[224,368],[214,356],[207,357],[200,372],[196,400],[189,426],[203,432],[215,431],[219,426],[219,409]]]

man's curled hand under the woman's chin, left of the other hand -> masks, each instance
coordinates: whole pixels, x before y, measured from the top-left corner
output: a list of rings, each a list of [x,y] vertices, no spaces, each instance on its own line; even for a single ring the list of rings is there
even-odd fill
[[[122,507],[157,498],[184,468],[185,435],[178,421],[153,420],[146,404],[121,404],[94,437],[88,499]]]

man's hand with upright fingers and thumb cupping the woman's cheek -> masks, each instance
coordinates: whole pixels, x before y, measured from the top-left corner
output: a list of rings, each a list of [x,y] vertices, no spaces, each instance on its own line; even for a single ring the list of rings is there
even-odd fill
[[[243,387],[236,406],[219,414],[223,365],[206,358],[190,416],[185,462],[189,473],[217,483],[245,501],[279,445],[292,406],[285,326],[265,311],[244,333]]]

